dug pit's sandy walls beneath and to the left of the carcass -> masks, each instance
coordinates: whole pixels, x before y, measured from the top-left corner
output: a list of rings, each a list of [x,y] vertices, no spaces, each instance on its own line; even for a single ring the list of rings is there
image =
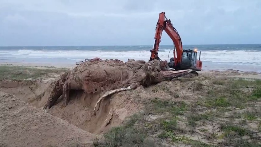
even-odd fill
[[[0,81],[1,92],[14,94],[18,99],[42,109],[48,100],[56,80],[42,81]],[[138,87],[136,89],[139,90]],[[138,102],[132,100],[131,92],[120,92],[103,98],[99,93],[88,94],[84,90],[70,90],[69,102],[63,107],[60,97],[53,107],[46,112],[59,117],[90,133],[103,133],[113,126],[120,125],[126,116],[140,108]],[[97,109],[94,113],[95,105]]]

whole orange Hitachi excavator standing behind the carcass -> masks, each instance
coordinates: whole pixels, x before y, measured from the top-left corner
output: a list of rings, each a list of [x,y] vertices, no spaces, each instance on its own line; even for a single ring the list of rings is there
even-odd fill
[[[197,49],[194,50],[183,50],[182,42],[178,31],[173,27],[170,19],[165,20],[165,12],[159,14],[159,20],[156,26],[155,43],[153,49],[151,50],[151,56],[149,61],[154,59],[160,61],[160,66],[162,70],[193,70],[190,73],[190,77],[198,76],[196,71],[200,71],[202,67],[202,62],[197,60]],[[160,38],[161,34],[165,30],[168,36],[172,39],[174,43],[173,57],[170,61],[161,61],[158,56]],[[175,51],[176,50],[176,51]],[[201,52],[200,52],[201,53]]]

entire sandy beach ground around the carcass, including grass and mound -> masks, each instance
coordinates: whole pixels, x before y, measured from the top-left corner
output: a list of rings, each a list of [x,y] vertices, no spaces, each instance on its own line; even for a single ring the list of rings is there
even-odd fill
[[[44,111],[55,81],[75,66],[1,63],[0,117],[4,119],[0,121],[0,145],[222,146],[259,142],[259,72],[202,70],[197,77],[139,86],[107,97],[95,115],[97,99],[86,97],[82,90],[71,91],[67,106],[58,99]],[[226,136],[231,131],[234,135]]]

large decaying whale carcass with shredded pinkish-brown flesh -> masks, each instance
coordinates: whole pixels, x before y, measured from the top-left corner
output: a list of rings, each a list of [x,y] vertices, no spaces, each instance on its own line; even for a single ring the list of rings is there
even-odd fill
[[[94,111],[97,111],[102,99],[113,93],[135,89],[138,85],[147,87],[183,76],[191,71],[161,71],[158,60],[149,62],[131,60],[124,63],[117,59],[96,59],[83,62],[61,75],[44,109],[51,108],[58,98],[63,99],[63,107],[65,107],[69,101],[70,90],[82,89],[87,95],[94,93],[101,95],[94,107]]]

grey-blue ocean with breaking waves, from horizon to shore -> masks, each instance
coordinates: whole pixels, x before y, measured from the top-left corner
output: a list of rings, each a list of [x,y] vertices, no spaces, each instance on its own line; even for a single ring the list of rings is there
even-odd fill
[[[261,44],[183,45],[184,50],[201,51],[202,70],[243,70],[261,72]],[[148,61],[152,46],[15,46],[0,47],[0,62],[42,62],[75,64],[99,57]],[[169,60],[173,45],[160,45],[159,57]],[[199,54],[197,56],[199,59]]]

